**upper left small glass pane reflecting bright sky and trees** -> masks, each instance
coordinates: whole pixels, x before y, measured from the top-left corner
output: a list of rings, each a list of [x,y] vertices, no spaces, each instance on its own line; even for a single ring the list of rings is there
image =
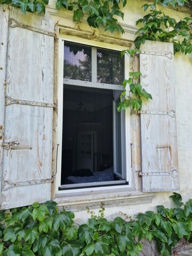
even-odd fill
[[[63,77],[91,82],[91,47],[65,42]]]

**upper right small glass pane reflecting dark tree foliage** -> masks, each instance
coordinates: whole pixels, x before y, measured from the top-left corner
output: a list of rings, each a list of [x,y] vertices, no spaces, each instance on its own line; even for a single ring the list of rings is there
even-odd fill
[[[124,80],[124,58],[121,53],[97,49],[97,82],[121,85]]]

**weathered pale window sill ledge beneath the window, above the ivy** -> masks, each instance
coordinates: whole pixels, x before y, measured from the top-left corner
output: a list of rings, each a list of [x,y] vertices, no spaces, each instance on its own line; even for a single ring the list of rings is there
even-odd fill
[[[130,188],[100,190],[100,191],[82,191],[80,193],[62,193],[59,191],[55,194],[54,201],[57,202],[59,210],[79,211],[86,210],[87,207],[94,209],[101,206],[114,205],[134,205],[151,203],[155,193],[141,193],[133,191]]]

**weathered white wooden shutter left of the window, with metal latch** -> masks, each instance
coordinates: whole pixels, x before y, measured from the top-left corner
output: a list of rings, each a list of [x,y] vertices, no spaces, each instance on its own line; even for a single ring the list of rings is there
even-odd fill
[[[3,9],[0,57],[5,45],[7,54],[0,85],[5,109],[0,119],[1,208],[8,209],[51,198],[54,23]]]

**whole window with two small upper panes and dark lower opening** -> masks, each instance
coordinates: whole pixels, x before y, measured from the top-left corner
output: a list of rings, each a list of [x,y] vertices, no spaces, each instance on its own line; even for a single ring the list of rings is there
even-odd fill
[[[118,113],[117,106],[126,61],[121,51],[70,41],[61,45],[59,189],[125,185],[127,113]]]

